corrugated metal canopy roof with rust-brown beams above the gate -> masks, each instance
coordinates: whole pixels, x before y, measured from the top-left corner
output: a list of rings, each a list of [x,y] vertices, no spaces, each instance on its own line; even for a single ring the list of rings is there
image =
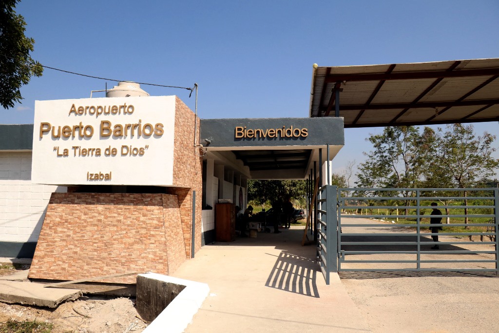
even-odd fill
[[[498,77],[499,58],[317,67],[309,116],[345,128],[498,121]]]

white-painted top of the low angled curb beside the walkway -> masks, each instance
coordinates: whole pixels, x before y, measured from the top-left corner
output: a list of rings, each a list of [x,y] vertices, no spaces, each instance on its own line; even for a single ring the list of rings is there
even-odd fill
[[[149,324],[144,333],[184,332],[210,293],[210,287],[205,283],[178,279],[156,273],[146,273],[140,276],[186,286],[170,305]]]

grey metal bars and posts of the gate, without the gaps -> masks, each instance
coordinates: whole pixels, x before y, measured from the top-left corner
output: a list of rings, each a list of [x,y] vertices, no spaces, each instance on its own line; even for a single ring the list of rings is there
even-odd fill
[[[421,201],[429,201],[429,200],[463,200],[464,197],[422,197],[421,193],[422,192],[429,192],[429,191],[468,191],[468,192],[486,192],[486,193],[491,193],[491,196],[481,196],[481,197],[468,197],[468,200],[473,200],[473,199],[483,199],[483,200],[493,200],[493,205],[482,205],[482,206],[439,206],[439,208],[451,208],[451,209],[456,209],[456,208],[468,208],[468,209],[483,209],[483,208],[491,208],[494,210],[494,214],[468,214],[468,215],[462,215],[462,214],[449,214],[449,215],[442,215],[442,218],[446,217],[459,217],[459,218],[464,218],[464,217],[469,217],[469,218],[475,218],[475,217],[488,217],[493,220],[493,223],[473,223],[473,226],[487,226],[487,227],[492,227],[493,232],[454,232],[454,233],[438,233],[440,236],[452,236],[452,235],[461,235],[461,236],[489,236],[489,237],[494,237],[494,241],[491,242],[480,242],[480,244],[494,244],[495,245],[495,251],[472,251],[472,250],[466,250],[466,251],[443,251],[443,250],[436,250],[436,251],[422,251],[421,250],[421,245],[425,245],[425,243],[431,244],[430,242],[421,242],[421,236],[432,236],[432,235],[437,235],[433,233],[421,233],[421,228],[428,228],[428,224],[421,224],[421,218],[428,218],[428,215],[422,215],[421,214],[421,209],[428,209],[431,208],[431,206],[421,206]],[[398,197],[398,196],[390,196],[390,197],[383,197],[383,196],[363,196],[363,197],[342,197],[342,192],[348,191],[352,192],[355,191],[356,193],[360,192],[377,192],[377,193],[383,193],[383,192],[397,192],[401,193],[402,191],[412,191],[416,193],[416,197]],[[342,219],[347,219],[347,218],[358,218],[358,215],[346,215],[342,214],[341,211],[344,208],[348,209],[356,209],[356,208],[363,208],[365,209],[366,206],[345,206],[345,201],[346,200],[375,200],[375,201],[380,201],[380,200],[403,200],[403,201],[415,201],[416,206],[369,206],[369,209],[411,209],[411,210],[416,210],[416,215],[411,215],[411,218],[416,218],[416,224],[379,224],[379,223],[373,223],[373,224],[348,224],[348,227],[412,227],[416,229],[416,233],[412,233],[410,235],[416,236],[417,240],[415,242],[401,242],[401,241],[394,241],[394,242],[344,242],[342,241],[342,236],[370,236],[372,234],[343,234],[341,232],[341,220]],[[330,272],[345,272],[345,271],[363,271],[363,272],[372,272],[372,271],[405,271],[405,272],[421,272],[421,271],[450,271],[450,272],[465,272],[465,271],[481,271],[481,272],[498,272],[499,271],[499,189],[498,188],[467,188],[467,189],[423,189],[423,188],[398,188],[398,189],[368,189],[368,188],[338,188],[337,186],[333,185],[325,185],[322,188],[319,189],[318,193],[318,211],[317,211],[317,230],[318,230],[318,241],[317,241],[317,252],[318,252],[318,261],[320,264],[320,268],[322,271],[322,274],[324,275],[324,279],[326,280],[326,284],[329,284],[329,273]],[[383,218],[387,217],[386,215],[373,215],[373,214],[368,214],[368,215],[362,215],[362,218]],[[406,215],[389,215],[390,218],[407,218]],[[452,226],[452,227],[464,227],[464,226],[469,226],[470,224],[445,224],[445,226]],[[376,234],[379,236],[407,236],[407,233],[404,234],[398,234],[398,233],[390,233],[390,234]],[[477,244],[477,242],[440,242],[439,244],[445,245],[445,244]],[[345,251],[342,246],[343,245],[416,245],[417,250],[416,251]],[[355,254],[390,254],[390,253],[397,253],[397,254],[413,254],[416,255],[416,260],[372,260],[372,261],[355,261],[355,260],[347,260],[346,256],[348,255],[355,255]],[[425,254],[494,254],[495,255],[495,260],[422,260],[421,255]],[[347,263],[413,263],[416,264],[415,268],[366,268],[366,269],[349,269],[349,268],[342,268],[342,264],[347,264]],[[494,262],[495,263],[495,268],[489,269],[489,268],[476,268],[476,269],[449,269],[449,268],[422,268],[421,264],[422,263],[458,263],[458,262],[464,262],[464,263],[490,263]]]

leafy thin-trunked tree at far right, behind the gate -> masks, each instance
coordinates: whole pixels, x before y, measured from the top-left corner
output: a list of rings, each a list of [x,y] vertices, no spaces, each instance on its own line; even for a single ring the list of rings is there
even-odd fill
[[[432,145],[427,149],[429,165],[425,168],[427,185],[470,188],[495,176],[495,169],[499,167],[499,160],[492,157],[496,151],[492,147],[495,135],[485,132],[477,137],[473,125],[462,124],[448,125],[446,131],[439,127],[431,135]],[[464,197],[467,206],[468,191],[464,191]],[[468,215],[467,208],[465,215]],[[468,217],[465,217],[465,223],[468,223]]]

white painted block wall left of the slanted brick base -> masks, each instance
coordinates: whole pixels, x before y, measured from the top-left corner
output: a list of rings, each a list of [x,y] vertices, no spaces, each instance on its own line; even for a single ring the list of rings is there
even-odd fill
[[[31,183],[31,152],[0,152],[0,242],[38,241],[50,194],[66,190]]]

